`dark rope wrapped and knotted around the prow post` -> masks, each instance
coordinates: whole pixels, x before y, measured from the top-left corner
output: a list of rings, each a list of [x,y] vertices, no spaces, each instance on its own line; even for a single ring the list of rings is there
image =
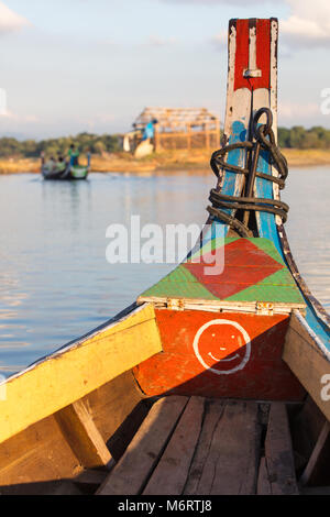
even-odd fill
[[[258,125],[260,118],[265,114],[267,121],[265,124]],[[219,189],[213,188],[210,191],[209,200],[212,206],[208,207],[208,212],[227,223],[235,230],[241,237],[251,237],[251,229],[248,227],[251,211],[268,212],[279,216],[285,222],[289,207],[287,204],[277,199],[256,198],[253,195],[255,178],[266,179],[276,183],[279,189],[285,186],[285,179],[288,175],[287,161],[276,145],[274,132],[272,130],[273,114],[268,108],[261,108],[254,116],[252,121],[252,139],[254,141],[240,142],[231,145],[224,145],[221,150],[216,151],[211,157],[211,168],[219,180],[223,177],[223,172],[228,170],[235,174],[243,174],[246,177],[244,196],[227,196],[221,194]],[[239,167],[226,162],[224,157],[230,151],[246,150],[248,166]],[[270,156],[272,166],[278,173],[278,176],[263,174],[256,170],[257,161],[261,151],[266,151]],[[234,215],[231,216],[223,209],[244,211],[243,221],[240,221]]]

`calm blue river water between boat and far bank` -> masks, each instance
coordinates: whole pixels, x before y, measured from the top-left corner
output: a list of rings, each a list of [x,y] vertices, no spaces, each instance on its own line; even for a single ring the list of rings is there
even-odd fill
[[[0,373],[10,375],[130,305],[173,270],[106,261],[111,223],[198,223],[212,174],[92,174],[88,182],[0,176]],[[330,170],[292,169],[283,200],[292,250],[330,309]]]

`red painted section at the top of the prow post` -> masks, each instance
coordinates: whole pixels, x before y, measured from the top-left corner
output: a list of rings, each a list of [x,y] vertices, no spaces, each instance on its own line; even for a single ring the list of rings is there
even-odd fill
[[[256,66],[262,70],[261,77],[243,76],[249,68],[249,20],[238,20],[234,90],[271,88],[271,20],[256,20]]]

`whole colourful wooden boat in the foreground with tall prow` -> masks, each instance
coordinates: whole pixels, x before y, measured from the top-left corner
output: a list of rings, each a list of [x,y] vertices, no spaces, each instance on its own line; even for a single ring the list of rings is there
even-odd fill
[[[229,24],[218,185],[187,261],[0,386],[1,493],[329,493],[330,320],[283,228],[277,33]]]

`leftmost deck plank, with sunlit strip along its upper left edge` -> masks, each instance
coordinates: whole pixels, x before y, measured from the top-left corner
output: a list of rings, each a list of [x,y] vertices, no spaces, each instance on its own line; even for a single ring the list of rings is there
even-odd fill
[[[97,495],[136,495],[143,490],[188,402],[165,397],[151,408],[124,455]]]

